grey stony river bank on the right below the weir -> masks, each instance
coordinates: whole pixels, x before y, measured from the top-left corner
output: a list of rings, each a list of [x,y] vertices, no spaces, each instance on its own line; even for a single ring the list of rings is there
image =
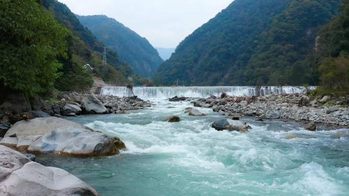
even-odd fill
[[[196,107],[211,107],[213,111],[231,116],[251,116],[262,119],[290,119],[314,124],[347,127],[349,97],[310,100],[302,94],[232,97],[222,94],[192,101]]]

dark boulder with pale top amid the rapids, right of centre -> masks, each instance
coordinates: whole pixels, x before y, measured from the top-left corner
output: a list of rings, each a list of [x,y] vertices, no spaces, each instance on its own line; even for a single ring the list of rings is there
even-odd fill
[[[251,127],[247,125],[244,121],[230,120],[230,119],[221,119],[215,121],[212,124],[212,128],[217,131],[229,130],[229,131],[247,131]]]

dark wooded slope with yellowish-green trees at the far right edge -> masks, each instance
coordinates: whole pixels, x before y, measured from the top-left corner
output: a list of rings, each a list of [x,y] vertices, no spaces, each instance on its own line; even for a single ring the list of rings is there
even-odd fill
[[[319,65],[320,94],[349,94],[349,1],[344,0],[340,15],[318,34],[315,66]]]

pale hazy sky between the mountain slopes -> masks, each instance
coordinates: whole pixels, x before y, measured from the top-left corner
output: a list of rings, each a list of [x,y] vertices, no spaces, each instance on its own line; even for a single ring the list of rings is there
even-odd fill
[[[79,15],[115,18],[155,47],[174,48],[233,0],[59,0]]]

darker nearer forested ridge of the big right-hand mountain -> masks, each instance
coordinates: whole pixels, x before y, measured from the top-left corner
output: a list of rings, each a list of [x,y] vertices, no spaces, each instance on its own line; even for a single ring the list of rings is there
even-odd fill
[[[334,16],[339,4],[292,1],[261,34],[244,73],[246,85],[315,85],[314,67],[304,60],[315,48],[318,27]]]

